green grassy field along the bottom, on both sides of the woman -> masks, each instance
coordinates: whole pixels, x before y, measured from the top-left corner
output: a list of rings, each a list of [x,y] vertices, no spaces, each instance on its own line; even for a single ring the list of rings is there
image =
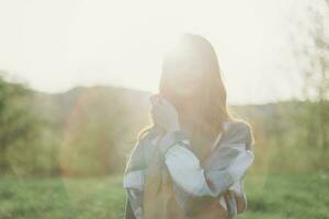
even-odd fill
[[[329,173],[251,175],[248,212],[239,219],[329,218]],[[121,176],[0,180],[0,218],[123,218]]]

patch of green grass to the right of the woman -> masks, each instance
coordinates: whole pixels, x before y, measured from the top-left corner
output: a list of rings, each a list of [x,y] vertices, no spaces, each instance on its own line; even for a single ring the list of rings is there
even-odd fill
[[[329,218],[329,173],[270,175],[246,184],[248,211],[239,219]]]

